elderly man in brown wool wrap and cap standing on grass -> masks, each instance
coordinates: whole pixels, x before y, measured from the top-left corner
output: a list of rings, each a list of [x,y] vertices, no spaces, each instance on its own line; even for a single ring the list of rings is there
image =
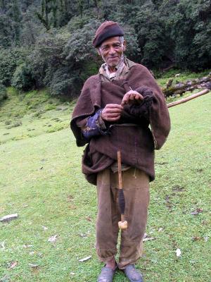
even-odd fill
[[[117,267],[129,281],[143,281],[134,264],[141,257],[149,182],[155,178],[154,150],[162,147],[170,132],[165,98],[147,68],[123,56],[123,36],[120,25],[111,21],[96,31],[93,44],[105,63],[85,82],[70,124],[77,145],[88,143],[82,172],[97,186],[96,252],[106,263],[98,282],[113,281]],[[117,263],[118,150],[128,228],[121,232]]]

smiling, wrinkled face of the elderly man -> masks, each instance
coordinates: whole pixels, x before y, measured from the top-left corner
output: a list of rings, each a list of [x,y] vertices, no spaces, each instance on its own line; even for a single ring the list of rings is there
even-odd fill
[[[125,41],[120,42],[120,37],[110,37],[103,41],[101,47],[98,49],[98,54],[102,56],[110,68],[115,68],[121,59],[123,51],[125,50]]]

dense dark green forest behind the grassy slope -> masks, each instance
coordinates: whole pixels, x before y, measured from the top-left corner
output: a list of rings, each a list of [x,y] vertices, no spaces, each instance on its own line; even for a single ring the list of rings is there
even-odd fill
[[[155,73],[211,66],[210,0],[0,0],[0,100],[6,87],[77,97],[98,72],[97,27],[124,27],[126,56]]]

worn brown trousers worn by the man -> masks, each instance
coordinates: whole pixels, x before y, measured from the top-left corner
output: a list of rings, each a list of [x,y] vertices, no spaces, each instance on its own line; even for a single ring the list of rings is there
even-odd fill
[[[125,220],[128,228],[121,231],[118,266],[124,269],[134,264],[142,254],[143,235],[146,230],[149,203],[149,178],[137,168],[122,171],[125,198]],[[101,262],[117,255],[120,209],[118,206],[118,173],[110,168],[98,173],[98,216],[96,220],[96,252]]]

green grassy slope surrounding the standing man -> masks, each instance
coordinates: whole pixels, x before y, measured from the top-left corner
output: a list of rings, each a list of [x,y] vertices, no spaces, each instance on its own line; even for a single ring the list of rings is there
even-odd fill
[[[44,92],[29,96],[10,89],[1,106],[0,217],[19,217],[0,223],[0,281],[96,281],[96,188],[82,176],[84,148],[68,128],[73,104],[53,99],[49,109]],[[170,109],[172,130],[151,183],[146,233],[155,240],[144,243],[137,265],[146,282],[210,281],[210,106],[206,94]],[[117,273],[114,281],[127,279]]]

